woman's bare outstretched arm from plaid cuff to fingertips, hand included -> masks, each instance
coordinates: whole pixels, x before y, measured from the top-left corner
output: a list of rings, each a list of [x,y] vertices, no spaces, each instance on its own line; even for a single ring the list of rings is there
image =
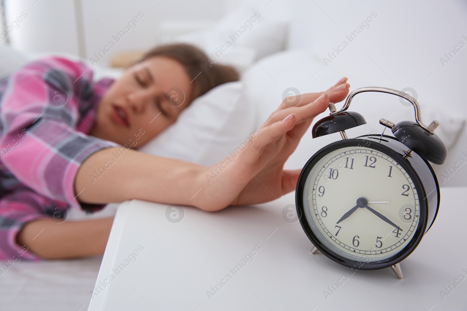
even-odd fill
[[[303,94],[294,107],[284,101],[237,156],[214,166],[125,148],[96,152],[78,170],[78,200],[109,203],[140,199],[206,211],[274,200],[295,188],[299,171],[284,171],[283,165],[313,118],[325,111],[330,101],[340,102],[347,96],[349,84],[343,82],[326,92]]]

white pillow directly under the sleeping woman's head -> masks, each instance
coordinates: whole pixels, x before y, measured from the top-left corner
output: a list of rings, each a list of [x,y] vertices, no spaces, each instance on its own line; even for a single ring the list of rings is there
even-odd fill
[[[255,131],[256,109],[243,90],[241,82],[215,87],[139,151],[205,166],[226,158]]]

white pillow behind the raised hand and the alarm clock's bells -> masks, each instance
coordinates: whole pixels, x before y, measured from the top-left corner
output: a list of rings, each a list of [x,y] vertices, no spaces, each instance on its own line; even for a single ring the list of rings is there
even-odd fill
[[[337,66],[338,64],[339,66]],[[374,68],[371,62],[365,66],[361,64],[359,66],[359,70],[352,70],[348,63],[336,63],[336,66],[326,67],[322,60],[315,59],[310,50],[288,50],[263,58],[259,64],[251,66],[242,76],[242,81],[246,86],[245,94],[258,107],[259,117],[256,126],[259,126],[271,111],[276,109],[284,95],[291,94],[290,92],[297,93],[297,91],[302,94],[323,91],[343,76],[348,76],[351,90],[372,85],[393,87],[391,84],[382,82],[385,79],[384,75],[377,76],[372,73]],[[428,90],[422,87],[423,81],[414,80],[413,83],[415,83],[416,89],[424,90],[424,98],[417,99],[421,106],[422,121],[425,124],[430,124],[432,119],[437,119],[440,122],[436,134],[448,148],[448,157],[445,163],[441,166],[433,165],[438,178],[441,178],[442,174],[446,174],[446,169],[451,169],[451,165],[459,162],[459,158],[463,157],[462,152],[465,150],[462,148],[465,149],[464,146],[467,143],[466,116],[462,114],[462,111],[446,109],[446,104],[443,105],[437,101],[437,98],[443,96],[444,89],[432,88]],[[421,94],[412,95],[418,97]],[[340,108],[343,104],[339,103],[336,106]],[[347,130],[349,138],[375,133],[375,131],[381,134],[385,129],[378,122],[381,117],[389,118],[396,123],[402,120],[415,122],[413,108],[408,104],[403,104],[403,100],[400,101],[399,97],[389,94],[361,93],[352,101],[349,110],[361,113],[367,121],[367,124]],[[306,161],[321,147],[341,139],[339,133],[312,138],[311,129],[314,123],[326,116],[329,116],[329,111],[325,111],[315,118],[297,149],[287,160],[285,164],[287,169],[302,168]],[[386,130],[385,134],[392,135],[389,130]],[[457,180],[450,179],[442,186],[467,185],[466,179],[462,179],[460,174],[455,176],[458,178]]]

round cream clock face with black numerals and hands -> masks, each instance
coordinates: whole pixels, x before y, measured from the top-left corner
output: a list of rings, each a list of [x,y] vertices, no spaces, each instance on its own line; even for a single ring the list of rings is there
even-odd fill
[[[322,245],[364,263],[396,255],[423,226],[409,173],[384,152],[361,145],[340,147],[316,162],[306,176],[303,207]]]

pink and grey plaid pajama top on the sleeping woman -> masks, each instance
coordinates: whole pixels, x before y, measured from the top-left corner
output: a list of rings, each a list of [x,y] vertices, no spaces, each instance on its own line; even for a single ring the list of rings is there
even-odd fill
[[[0,80],[0,259],[37,260],[16,242],[28,221],[63,221],[78,202],[74,179],[92,153],[119,146],[88,136],[112,79],[92,82],[92,69],[50,57]]]

